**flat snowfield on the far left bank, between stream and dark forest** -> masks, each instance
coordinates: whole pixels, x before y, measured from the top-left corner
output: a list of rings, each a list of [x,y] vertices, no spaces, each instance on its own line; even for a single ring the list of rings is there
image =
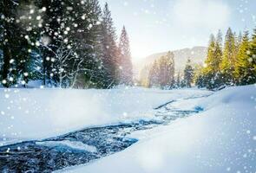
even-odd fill
[[[211,92],[161,91],[140,87],[111,90],[0,88],[0,145],[55,137],[89,126],[117,124],[154,116],[151,111],[173,99]]]

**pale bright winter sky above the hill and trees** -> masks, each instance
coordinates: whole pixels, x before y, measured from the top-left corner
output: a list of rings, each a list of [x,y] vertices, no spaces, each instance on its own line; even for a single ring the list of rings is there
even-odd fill
[[[256,28],[256,0],[100,0],[107,2],[120,35],[128,30],[134,61],[149,54],[207,46],[219,29]]]

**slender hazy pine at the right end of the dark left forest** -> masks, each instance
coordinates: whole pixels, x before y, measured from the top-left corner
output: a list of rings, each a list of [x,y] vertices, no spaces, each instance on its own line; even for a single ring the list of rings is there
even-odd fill
[[[131,61],[131,53],[129,48],[128,34],[125,27],[121,30],[119,42],[119,76],[121,84],[130,85],[133,82],[133,65]]]

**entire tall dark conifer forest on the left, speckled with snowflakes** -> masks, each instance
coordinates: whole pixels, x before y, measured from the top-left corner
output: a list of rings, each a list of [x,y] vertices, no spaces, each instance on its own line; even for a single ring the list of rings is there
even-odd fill
[[[108,3],[98,0],[0,2],[0,79],[6,87],[110,88],[133,82],[128,33],[117,42]]]

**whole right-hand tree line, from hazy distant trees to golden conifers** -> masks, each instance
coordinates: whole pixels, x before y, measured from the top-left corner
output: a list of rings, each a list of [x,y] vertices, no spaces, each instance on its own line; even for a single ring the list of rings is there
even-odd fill
[[[141,70],[141,86],[165,89],[198,86],[221,89],[225,86],[242,86],[256,83],[256,29],[236,35],[227,29],[210,35],[207,59],[203,66],[193,65],[187,59],[183,72],[174,71],[174,54],[168,52]]]

